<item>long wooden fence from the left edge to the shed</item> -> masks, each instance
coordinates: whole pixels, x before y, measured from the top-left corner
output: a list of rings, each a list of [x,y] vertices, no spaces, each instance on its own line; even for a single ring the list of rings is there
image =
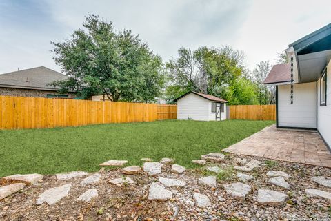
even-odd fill
[[[174,105],[0,96],[0,129],[152,122],[176,119],[174,111]]]

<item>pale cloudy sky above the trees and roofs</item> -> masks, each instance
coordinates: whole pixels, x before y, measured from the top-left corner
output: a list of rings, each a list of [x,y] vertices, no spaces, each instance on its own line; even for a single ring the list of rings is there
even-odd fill
[[[70,37],[88,13],[139,34],[163,61],[181,46],[230,45],[243,50],[245,64],[254,68],[331,23],[331,1],[1,0],[0,73],[35,66],[60,71],[50,41]]]

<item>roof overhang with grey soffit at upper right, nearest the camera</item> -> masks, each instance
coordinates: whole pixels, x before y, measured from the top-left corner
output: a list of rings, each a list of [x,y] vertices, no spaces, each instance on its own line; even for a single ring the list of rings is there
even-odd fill
[[[285,52],[294,58],[294,77],[299,83],[317,81],[331,59],[331,23],[294,41]]]

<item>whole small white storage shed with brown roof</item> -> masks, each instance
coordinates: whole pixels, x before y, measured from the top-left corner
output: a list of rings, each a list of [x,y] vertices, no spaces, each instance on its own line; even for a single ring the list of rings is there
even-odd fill
[[[190,91],[175,99],[177,102],[177,119],[224,120],[226,103],[224,99]]]

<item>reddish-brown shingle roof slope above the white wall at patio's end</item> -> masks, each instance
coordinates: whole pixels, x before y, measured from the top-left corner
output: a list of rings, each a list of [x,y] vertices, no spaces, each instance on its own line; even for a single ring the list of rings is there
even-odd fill
[[[291,65],[276,64],[274,65],[268,76],[265,78],[264,84],[277,84],[291,81]]]

